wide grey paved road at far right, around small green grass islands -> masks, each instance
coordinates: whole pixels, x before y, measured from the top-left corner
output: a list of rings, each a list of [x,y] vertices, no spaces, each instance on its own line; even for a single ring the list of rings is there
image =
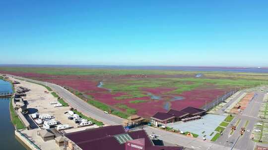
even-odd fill
[[[242,112],[242,114],[236,115],[236,117],[227,126],[226,130],[223,132],[223,135],[217,140],[216,143],[231,148],[239,137],[241,127],[243,127],[246,124],[247,120],[249,121],[249,123],[248,126],[246,127],[246,130],[250,129],[252,132],[255,122],[259,120],[257,116],[259,109],[262,105],[263,98],[264,93],[257,93],[257,95],[249,103],[248,107]],[[237,130],[234,131],[232,136],[229,136],[229,133],[231,131],[230,126],[232,124],[234,125],[238,119],[241,119],[241,121],[237,126]],[[246,131],[245,134],[238,139],[235,145],[236,149],[254,150],[255,142],[250,140],[251,132]]]

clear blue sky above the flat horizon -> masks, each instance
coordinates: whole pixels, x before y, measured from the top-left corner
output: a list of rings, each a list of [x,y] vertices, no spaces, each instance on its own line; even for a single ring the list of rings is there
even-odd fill
[[[0,64],[268,66],[268,0],[0,0]]]

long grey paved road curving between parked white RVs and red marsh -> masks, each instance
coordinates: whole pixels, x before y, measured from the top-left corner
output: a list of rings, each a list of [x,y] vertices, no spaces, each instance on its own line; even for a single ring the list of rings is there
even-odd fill
[[[11,77],[14,75],[9,75],[9,76]],[[76,97],[75,95],[67,91],[65,88],[57,84],[28,79],[28,78],[24,78],[20,76],[14,76],[14,77],[18,79],[23,79],[26,81],[41,83],[43,85],[47,85],[51,87],[52,90],[57,92],[72,108],[77,109],[79,112],[82,112],[83,114],[90,116],[98,121],[102,121],[104,124],[119,125],[119,124],[122,124],[122,122],[124,121],[123,118],[120,118],[111,114],[106,114],[102,110],[99,110],[87,104],[86,102],[84,102],[83,100]]]

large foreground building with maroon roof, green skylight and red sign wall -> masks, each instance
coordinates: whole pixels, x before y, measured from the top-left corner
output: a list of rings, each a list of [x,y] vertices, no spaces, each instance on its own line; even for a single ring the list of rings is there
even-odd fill
[[[183,150],[154,146],[144,130],[126,132],[121,125],[65,134],[64,150]]]

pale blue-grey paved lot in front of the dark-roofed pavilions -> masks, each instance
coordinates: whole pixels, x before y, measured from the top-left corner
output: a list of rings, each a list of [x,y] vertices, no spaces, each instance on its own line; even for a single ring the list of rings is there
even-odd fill
[[[211,140],[211,138],[216,134],[216,131],[214,130],[219,126],[225,117],[226,116],[224,115],[206,114],[198,120],[168,123],[167,126],[183,132],[198,134],[199,138],[205,136],[206,139]]]

